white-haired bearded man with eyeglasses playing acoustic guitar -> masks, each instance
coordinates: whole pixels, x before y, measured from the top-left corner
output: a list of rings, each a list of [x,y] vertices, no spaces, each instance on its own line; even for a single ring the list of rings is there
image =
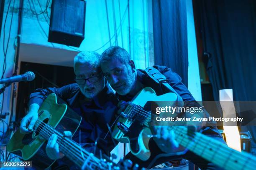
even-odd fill
[[[100,71],[100,57],[96,52],[80,52],[74,57],[74,73],[77,83],[60,88],[36,89],[30,95],[28,114],[20,122],[20,132],[30,133],[33,130],[38,119],[40,105],[49,94],[55,93],[82,117],[80,127],[73,135],[72,140],[91,152],[95,149],[94,144],[97,140],[97,147],[105,153],[109,153],[113,143],[105,142],[111,141],[110,135],[107,135],[107,138],[105,135],[108,131],[107,123],[112,121],[113,113],[116,111],[113,103],[117,101],[113,90]],[[64,135],[71,138],[71,133],[68,131],[64,132]],[[52,160],[64,157],[59,152],[59,145],[56,141],[57,135],[52,135],[46,146],[46,153]],[[62,166],[63,163],[72,165],[65,157],[57,162]],[[59,165],[56,165],[58,169]],[[62,169],[69,168],[64,166]]]

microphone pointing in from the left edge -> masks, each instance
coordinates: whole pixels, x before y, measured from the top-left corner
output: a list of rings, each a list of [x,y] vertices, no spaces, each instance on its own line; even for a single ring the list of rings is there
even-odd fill
[[[20,82],[20,81],[32,81],[35,79],[35,74],[32,71],[28,71],[23,75],[15,75],[13,77],[0,79],[0,84]]]

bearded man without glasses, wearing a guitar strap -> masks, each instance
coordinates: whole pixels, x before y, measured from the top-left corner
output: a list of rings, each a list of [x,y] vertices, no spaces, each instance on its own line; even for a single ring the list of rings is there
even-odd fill
[[[116,91],[116,96],[119,98],[119,100],[121,100],[121,102],[119,102],[120,110],[124,110],[127,102],[131,101],[133,97],[135,97],[136,94],[144,87],[153,88],[158,95],[170,92],[166,90],[163,85],[152,80],[152,78],[146,74],[145,70],[136,69],[133,60],[131,60],[131,56],[125,49],[121,47],[109,47],[102,53],[101,61],[101,69],[104,76],[107,78],[111,87],[113,87],[113,89]],[[179,75],[165,66],[155,65],[153,67],[166,77],[168,84],[174,90],[173,92],[179,95],[183,101],[195,101],[187,87],[181,82],[181,77],[179,77]],[[208,135],[215,140],[219,140],[220,142],[225,143],[216,126],[204,126],[200,131],[201,133]],[[174,133],[172,131],[166,130],[166,128],[163,129],[163,127],[161,128],[161,132],[163,133],[163,137],[159,141],[166,144],[164,147],[166,149],[176,149],[178,147],[178,143],[175,140]],[[149,141],[149,145],[151,144],[154,147],[158,147],[154,144],[153,140]],[[154,150],[151,150],[151,152],[154,152]],[[128,154],[126,158],[131,159],[133,163],[138,163],[141,167],[152,168],[148,167],[148,164],[150,163],[142,162],[138,158],[135,158],[133,155],[131,155],[131,153]],[[195,165],[197,165],[202,170],[220,169],[217,165],[204,160],[200,156],[190,151],[182,155],[182,158],[195,163]],[[164,163],[170,159],[171,158],[168,157],[158,159],[154,165]]]

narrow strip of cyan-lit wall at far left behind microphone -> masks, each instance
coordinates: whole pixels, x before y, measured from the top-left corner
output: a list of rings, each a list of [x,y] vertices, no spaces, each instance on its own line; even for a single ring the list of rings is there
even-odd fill
[[[13,4],[13,2],[15,2]],[[8,5],[9,12],[8,11]],[[3,25],[2,25],[2,32],[1,32],[1,38],[0,38],[0,75],[2,77],[9,77],[13,75],[13,67],[15,63],[15,48],[16,48],[16,36],[18,31],[18,9],[19,9],[19,1],[18,0],[5,0],[5,7],[4,7],[4,14],[3,14]],[[13,13],[13,18],[12,18]],[[6,18],[7,16],[7,18]],[[6,23],[5,23],[6,18]],[[9,39],[9,43],[8,43]],[[5,52],[4,52],[5,51]],[[4,53],[6,55],[4,55]],[[4,58],[6,56],[6,70],[3,74],[3,66],[4,66]],[[0,85],[0,88],[3,87],[3,85]],[[0,95],[0,105],[3,105],[3,112],[10,113],[11,112],[11,96],[12,96],[12,90],[13,84],[9,87],[7,87],[3,94]],[[3,100],[4,95],[4,100]],[[1,109],[1,107],[0,107]],[[1,112],[1,111],[0,111]],[[7,130],[7,124],[10,120],[10,115],[5,117],[5,119],[0,121],[0,137],[2,137],[3,132],[6,132]],[[1,138],[0,138],[1,139]],[[5,138],[6,139],[6,138]],[[3,145],[7,141],[6,140],[0,140],[0,143]]]

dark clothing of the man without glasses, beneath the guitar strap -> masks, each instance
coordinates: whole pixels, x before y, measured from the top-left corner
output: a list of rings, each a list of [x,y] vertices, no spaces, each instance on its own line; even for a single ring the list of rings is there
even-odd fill
[[[196,103],[196,102],[194,102],[195,98],[189,92],[187,87],[182,83],[182,79],[181,79],[181,77],[179,77],[179,75],[177,75],[170,68],[165,67],[165,66],[154,65],[153,67],[156,68],[157,70],[159,70],[159,72],[161,72],[161,74],[163,74],[166,77],[169,85],[171,85],[172,88],[177,92],[177,94],[180,95],[180,97],[182,97],[182,100],[184,101],[184,103],[186,101],[186,103],[188,104],[186,106],[189,106],[191,103],[192,104]],[[149,77],[146,74],[145,70],[137,70],[137,80],[140,81],[144,87],[151,87],[152,89],[154,89],[154,91],[156,92],[157,95],[163,95],[167,92],[171,92],[169,89],[166,89],[165,86],[163,86],[163,85],[155,82],[153,79],[151,79],[151,77]],[[131,101],[134,97],[131,95],[118,95],[118,94],[116,94],[116,95],[118,96],[119,100],[124,100],[124,101]],[[190,101],[192,101],[192,102],[190,102]],[[225,143],[223,141],[222,136],[218,132],[218,129],[216,128],[216,126],[204,126],[201,128],[200,132],[205,135],[211,136],[215,140],[219,140],[220,142]],[[151,146],[152,153],[157,152],[156,148],[158,148],[158,147],[152,139],[149,140],[148,145]],[[137,163],[141,167],[152,168],[152,167],[148,167],[148,165],[151,165],[151,163],[152,163],[151,160],[141,161],[140,159],[136,158],[131,153],[128,153],[125,156],[125,158],[132,160],[133,163]],[[176,158],[179,158],[179,157],[176,157]],[[204,159],[200,158],[199,156],[197,156],[196,154],[194,154],[190,151],[188,151],[186,154],[182,155],[182,158],[185,158],[187,160],[192,160],[193,163],[196,163],[196,165],[200,165],[200,167],[206,167],[205,169],[208,169],[208,167],[211,167],[211,166],[215,167],[215,165],[209,164],[209,162],[205,161]],[[168,157],[168,156],[161,157],[156,160],[156,162],[154,163],[154,166],[159,165],[164,162],[167,162],[171,159],[174,159],[174,157]]]

